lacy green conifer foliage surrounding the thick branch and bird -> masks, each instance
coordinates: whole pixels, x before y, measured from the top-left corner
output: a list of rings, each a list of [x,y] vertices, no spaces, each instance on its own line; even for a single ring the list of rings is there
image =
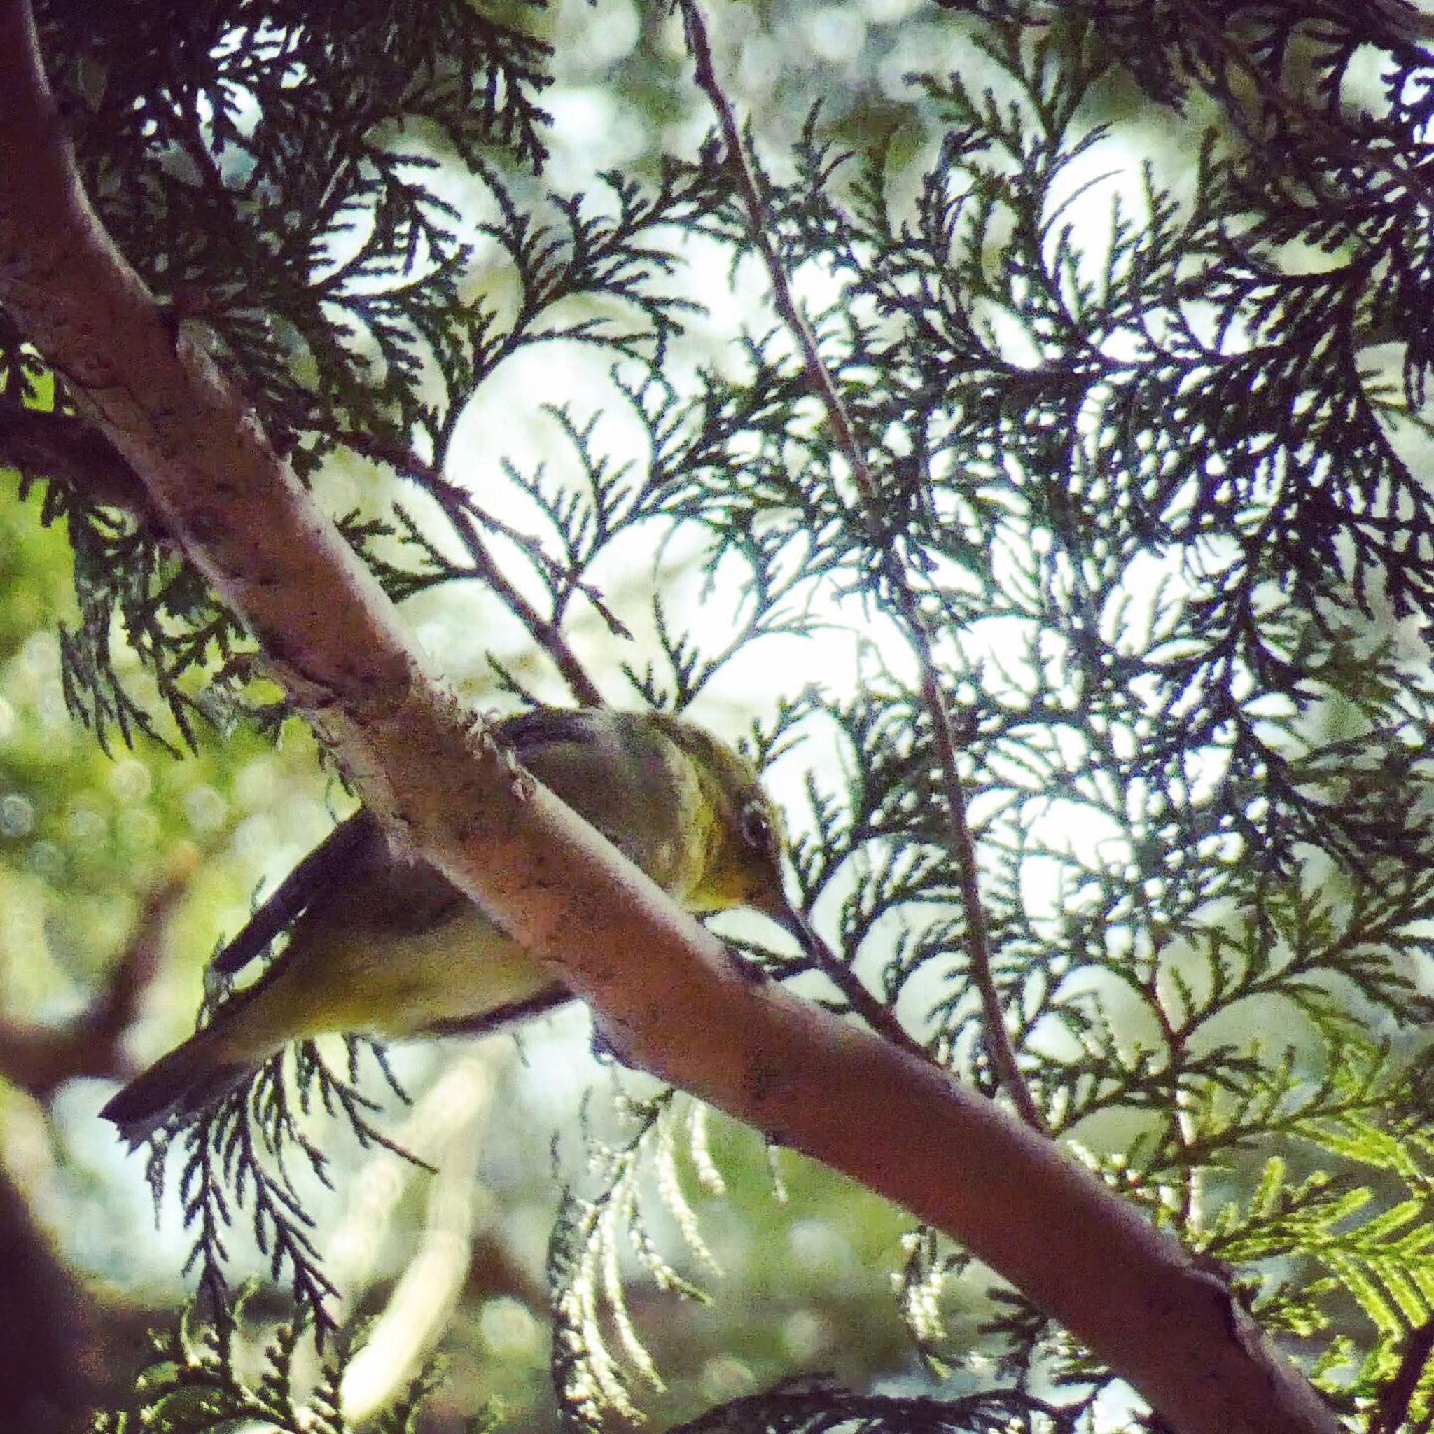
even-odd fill
[[[773,691],[751,733],[779,763],[804,737],[839,753],[790,816],[850,979],[773,969],[843,1010],[860,982],[932,1061],[1068,1143],[1351,1427],[1430,1427],[1434,24],[1400,0],[952,0],[919,23],[961,63],[911,76],[899,123],[858,86],[739,132],[723,49],[704,79],[681,10],[713,138],[574,192],[543,175],[538,10],[47,0],[39,19],[86,188],[176,334],[305,479],[336,456],[396,475],[384,519],[336,515],[391,595],[472,585],[574,700],[675,710],[751,652],[875,634],[859,683]],[[459,171],[479,199],[453,198]],[[684,348],[695,252],[776,295],[721,361]],[[446,465],[469,406],[539,346],[611,360],[645,453],[536,394],[569,462],[525,466],[493,436],[518,522]],[[0,462],[23,493],[49,480],[42,516],[75,549],[76,717],[176,754],[231,720],[277,727],[250,638],[118,455],[92,482],[19,460],[37,412],[60,449],[85,440],[65,374],[0,305]],[[690,635],[660,576],[607,589],[634,533],[698,535],[730,641]],[[143,687],[116,671],[116,618]],[[582,624],[615,641],[614,671],[579,661]],[[234,1220],[326,1328],[293,1180],[324,1157],[300,1117],[386,1139],[366,1051],[347,1073],[311,1050],[271,1063],[172,1137],[168,1167],[158,1152],[217,1332],[179,1339],[133,1427],[257,1417],[225,1374]],[[558,1395],[594,1428],[655,1374],[618,1246],[695,1292],[673,1263],[704,1253],[684,1186],[720,1187],[681,1097],[619,1114],[569,1173],[549,1258]],[[684,1250],[650,1228],[644,1170]],[[912,1228],[895,1273],[934,1371],[955,1358],[941,1291],[971,1268]],[[1100,1427],[1110,1372],[1018,1291],[994,1299],[979,1395],[815,1380],[690,1428]],[[330,1405],[315,1427],[341,1427]]]

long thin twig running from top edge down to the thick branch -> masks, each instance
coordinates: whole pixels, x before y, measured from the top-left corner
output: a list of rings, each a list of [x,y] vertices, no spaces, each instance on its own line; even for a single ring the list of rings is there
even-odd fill
[[[733,175],[736,176],[737,188],[747,211],[751,242],[766,265],[767,278],[771,284],[773,303],[782,321],[792,331],[802,350],[807,381],[826,409],[827,420],[836,435],[837,447],[850,465],[852,478],[862,499],[862,515],[880,555],[882,576],[891,585],[898,611],[906,627],[908,638],[921,665],[922,700],[931,716],[936,753],[941,759],[946,787],[946,803],[951,812],[948,849],[955,859],[961,901],[967,915],[967,955],[971,962],[971,978],[981,995],[985,1041],[987,1050],[991,1054],[991,1064],[1002,1088],[1020,1111],[1021,1119],[1035,1130],[1044,1131],[1047,1129],[1045,1121],[1025,1086],[1015,1060],[1015,1050],[1005,1028],[1005,1014],[1001,1010],[1001,994],[997,989],[991,968],[991,936],[987,926],[985,908],[981,903],[975,840],[971,836],[971,825],[967,820],[965,789],[961,783],[961,771],[956,763],[955,724],[951,720],[951,710],[946,706],[945,694],[941,691],[941,681],[932,652],[931,630],[921,615],[916,597],[906,582],[906,574],[901,566],[901,561],[893,548],[883,542],[885,535],[880,523],[882,505],[876,479],[856,437],[846,403],[842,400],[830,370],[822,358],[812,326],[807,323],[806,315],[797,305],[796,295],[792,293],[786,265],[771,237],[771,217],[761,196],[756,169],[741,142],[741,132],[737,126],[731,102],[727,99],[717,79],[717,72],[713,67],[711,44],[708,43],[707,23],[701,9],[697,0],[678,0],[678,4],[681,6],[683,22],[687,30],[687,46],[693,56],[697,86],[711,100],[713,110],[717,115],[717,125],[727,146],[727,159],[731,163]]]

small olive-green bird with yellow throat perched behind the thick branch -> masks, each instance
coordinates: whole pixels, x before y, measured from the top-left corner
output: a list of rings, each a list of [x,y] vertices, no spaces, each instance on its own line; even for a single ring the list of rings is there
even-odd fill
[[[782,815],[750,763],[664,713],[539,708],[495,736],[694,913],[749,906],[804,942]],[[185,1121],[290,1041],[326,1031],[480,1031],[569,992],[456,886],[391,855],[367,813],[340,823],[214,961],[232,977],[288,931],[252,987],[120,1090],[102,1114],[132,1144]]]

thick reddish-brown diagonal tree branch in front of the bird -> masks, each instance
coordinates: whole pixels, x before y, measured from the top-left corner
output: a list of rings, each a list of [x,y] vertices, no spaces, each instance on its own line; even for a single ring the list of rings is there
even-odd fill
[[[1182,1434],[1334,1434],[1177,1243],[948,1074],[753,978],[503,753],[80,191],[24,0],[0,0],[0,304],[244,617],[370,809],[598,1011],[628,1061],[949,1232]],[[575,938],[575,934],[581,936]]]

